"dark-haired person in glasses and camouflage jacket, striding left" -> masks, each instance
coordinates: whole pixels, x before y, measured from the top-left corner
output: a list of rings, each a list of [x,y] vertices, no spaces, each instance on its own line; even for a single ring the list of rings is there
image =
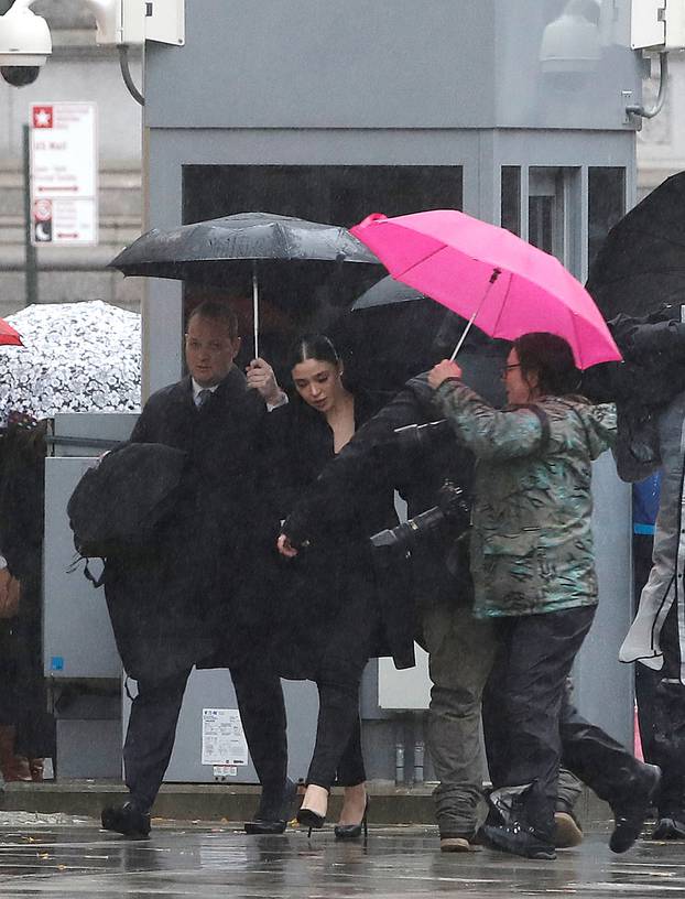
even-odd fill
[[[503,825],[487,826],[486,834],[504,852],[555,857],[564,750],[565,765],[592,786],[598,762],[612,760],[602,798],[616,815],[610,847],[626,852],[648,814],[659,769],[638,762],[600,728],[579,717],[574,724],[566,691],[597,606],[591,462],[613,444],[616,409],[572,392],[578,372],[570,347],[546,333],[514,340],[501,411],[463,383],[455,362],[435,366],[428,380],[457,438],[476,456],[474,614],[493,622],[500,643],[490,679],[499,745],[493,758],[488,746],[488,755]],[[567,758],[574,726],[585,728],[585,750]]]

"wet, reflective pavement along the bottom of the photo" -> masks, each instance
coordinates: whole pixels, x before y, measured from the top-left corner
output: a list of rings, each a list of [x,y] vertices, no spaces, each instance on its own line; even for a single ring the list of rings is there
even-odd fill
[[[372,828],[367,846],[333,833],[249,837],[227,825],[157,827],[134,842],[95,822],[33,830],[0,828],[0,896],[97,899],[342,899],[581,895],[584,899],[685,896],[685,847],[641,842],[612,855],[606,834],[556,862],[514,859],[490,851],[441,855],[433,828]]]

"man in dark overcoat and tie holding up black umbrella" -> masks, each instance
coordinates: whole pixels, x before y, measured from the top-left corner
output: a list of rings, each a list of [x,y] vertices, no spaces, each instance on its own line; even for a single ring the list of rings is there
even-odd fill
[[[285,402],[261,359],[239,371],[238,323],[206,301],[185,335],[188,376],[145,403],[131,440],[188,454],[186,489],[151,562],[108,560],[105,591],[127,674],[138,681],[123,760],[130,794],[102,811],[102,826],[150,832],[150,809],[172,754],[193,665],[229,668],[262,795],[248,833],[282,833],[295,799],[286,779],[285,708],[279,675],[250,619],[257,441],[267,410]],[[250,389],[254,388],[254,389]]]

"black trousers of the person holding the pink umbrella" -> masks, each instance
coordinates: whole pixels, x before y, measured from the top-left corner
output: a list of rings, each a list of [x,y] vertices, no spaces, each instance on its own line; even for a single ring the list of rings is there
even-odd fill
[[[525,811],[551,832],[559,765],[613,804],[640,762],[570,702],[567,679],[595,616],[594,606],[502,618],[501,647],[488,684],[488,766],[493,786],[534,784]]]

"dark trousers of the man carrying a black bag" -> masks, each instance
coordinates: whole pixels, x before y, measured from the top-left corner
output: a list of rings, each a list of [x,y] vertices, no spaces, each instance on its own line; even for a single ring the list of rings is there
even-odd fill
[[[150,809],[168,767],[191,669],[163,681],[141,680],[123,745],[126,784]],[[280,817],[287,770],[285,705],[278,675],[259,663],[231,668],[248,748],[262,784],[260,816]]]

